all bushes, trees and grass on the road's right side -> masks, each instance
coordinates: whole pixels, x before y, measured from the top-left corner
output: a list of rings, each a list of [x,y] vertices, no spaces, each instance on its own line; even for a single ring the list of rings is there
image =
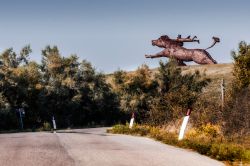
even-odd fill
[[[220,98],[215,101],[214,96],[203,95],[211,81],[208,77],[199,72],[182,75],[174,62],[161,62],[157,74],[151,76],[144,66],[133,74],[115,73],[113,86],[124,91],[121,108],[135,112],[137,124],[132,129],[128,124],[115,125],[109,132],[148,136],[230,165],[250,164],[250,45],[241,42],[232,57],[233,80],[223,106]],[[138,82],[136,78],[141,82],[131,86]],[[150,95],[145,91],[148,85],[154,85]],[[192,109],[190,123],[185,139],[178,141],[187,108]]]

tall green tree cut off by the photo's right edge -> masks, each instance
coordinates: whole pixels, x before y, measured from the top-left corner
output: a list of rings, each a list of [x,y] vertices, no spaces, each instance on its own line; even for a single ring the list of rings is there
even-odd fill
[[[250,45],[242,41],[238,51],[232,51],[234,80],[223,112],[224,129],[227,134],[250,133]]]

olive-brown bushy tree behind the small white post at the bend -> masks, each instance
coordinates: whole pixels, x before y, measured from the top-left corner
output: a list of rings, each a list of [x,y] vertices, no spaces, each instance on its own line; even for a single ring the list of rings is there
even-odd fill
[[[137,122],[145,122],[157,82],[152,79],[147,65],[142,65],[134,73],[117,71],[114,74],[114,89],[120,98],[120,108],[124,112],[136,114]]]

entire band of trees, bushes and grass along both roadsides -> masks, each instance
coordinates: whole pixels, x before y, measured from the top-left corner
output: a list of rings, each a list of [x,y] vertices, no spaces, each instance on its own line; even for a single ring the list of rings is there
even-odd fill
[[[183,74],[174,60],[161,61],[154,72],[142,65],[110,76],[76,55],[62,56],[56,46],[42,50],[40,63],[29,60],[31,51],[26,46],[0,54],[0,131],[19,129],[17,110],[23,108],[25,130],[49,131],[53,116],[58,128],[120,124],[109,132],[149,136],[222,161],[250,161],[247,43],[232,52],[233,80],[223,105],[212,89],[207,92],[211,78],[199,71]],[[187,133],[177,141],[187,109]],[[132,113],[137,125],[129,129]]]

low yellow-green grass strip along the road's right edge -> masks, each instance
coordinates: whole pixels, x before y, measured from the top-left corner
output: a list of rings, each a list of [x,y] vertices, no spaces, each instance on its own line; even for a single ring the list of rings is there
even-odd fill
[[[110,133],[147,136],[163,143],[192,149],[200,154],[217,160],[227,161],[227,164],[247,164],[250,161],[250,147],[227,139],[218,125],[202,125],[188,130],[185,139],[178,141],[178,132],[169,132],[164,127],[138,125],[115,125]],[[242,140],[243,141],[243,140]]]

